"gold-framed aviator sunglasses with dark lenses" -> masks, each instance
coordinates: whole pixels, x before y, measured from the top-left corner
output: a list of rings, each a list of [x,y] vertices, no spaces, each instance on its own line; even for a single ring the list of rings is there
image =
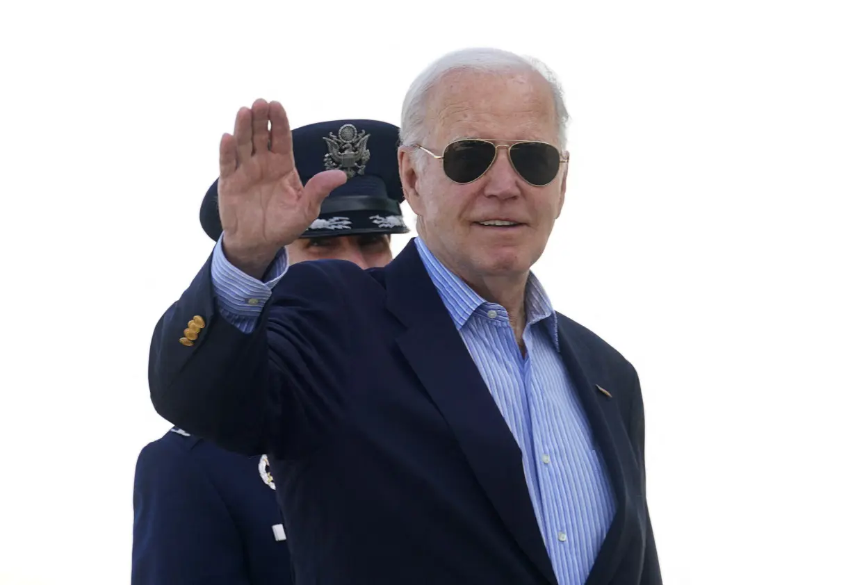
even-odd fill
[[[504,142],[509,144],[496,144]],[[550,184],[558,174],[558,167],[567,159],[550,143],[534,140],[499,140],[498,138],[463,138],[455,140],[445,147],[442,155],[437,155],[423,147],[413,144],[442,161],[445,176],[455,183],[472,183],[484,176],[496,161],[498,149],[508,149],[510,166],[526,183],[535,187]]]

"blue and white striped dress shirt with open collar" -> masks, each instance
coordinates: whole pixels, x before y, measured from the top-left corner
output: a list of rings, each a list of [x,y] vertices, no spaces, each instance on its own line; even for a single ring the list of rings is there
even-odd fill
[[[615,496],[561,360],[557,314],[531,275],[523,356],[504,307],[476,294],[418,237],[416,247],[522,451],[528,493],[558,583],[583,585],[614,517]],[[262,282],[232,266],[218,242],[211,278],[223,316],[252,331],[287,264],[283,250],[268,270],[274,277]]]

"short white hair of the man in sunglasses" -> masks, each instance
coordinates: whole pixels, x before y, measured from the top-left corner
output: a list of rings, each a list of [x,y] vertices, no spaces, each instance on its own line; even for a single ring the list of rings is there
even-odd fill
[[[453,71],[475,71],[479,73],[537,73],[552,93],[557,118],[558,145],[567,146],[567,125],[570,115],[564,104],[563,91],[555,73],[534,57],[519,56],[500,49],[463,49],[439,57],[419,74],[410,85],[401,108],[401,143],[421,143],[428,137],[425,119],[428,114],[428,94],[447,73]]]

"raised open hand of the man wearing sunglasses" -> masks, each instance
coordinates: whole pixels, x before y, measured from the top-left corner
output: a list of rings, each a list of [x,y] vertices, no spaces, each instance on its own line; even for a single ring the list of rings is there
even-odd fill
[[[234,135],[224,134],[220,141],[223,251],[255,278],[317,218],[330,191],[347,180],[342,171],[324,171],[303,186],[292,148],[285,109],[262,99],[251,109],[240,108]]]

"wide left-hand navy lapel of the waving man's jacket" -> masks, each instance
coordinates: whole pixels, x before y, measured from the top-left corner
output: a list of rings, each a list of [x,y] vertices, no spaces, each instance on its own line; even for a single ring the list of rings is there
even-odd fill
[[[398,346],[451,427],[481,488],[522,550],[553,585],[522,453],[410,242],[386,268],[387,305],[407,326]]]

